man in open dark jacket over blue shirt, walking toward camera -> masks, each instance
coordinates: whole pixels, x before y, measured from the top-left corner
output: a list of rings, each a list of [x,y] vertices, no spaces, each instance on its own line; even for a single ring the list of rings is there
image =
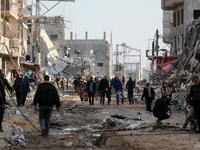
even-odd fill
[[[94,105],[94,94],[96,92],[96,83],[94,82],[94,79],[92,76],[90,77],[90,81],[87,82],[87,92],[88,92],[90,105]]]

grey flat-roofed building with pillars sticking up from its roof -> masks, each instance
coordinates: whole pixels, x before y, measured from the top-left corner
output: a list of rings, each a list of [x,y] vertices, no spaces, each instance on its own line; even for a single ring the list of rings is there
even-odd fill
[[[89,61],[89,70],[77,72],[74,76],[80,76],[81,73],[89,71],[94,76],[113,76],[113,46],[106,40],[106,32],[103,39],[88,39],[88,32],[85,32],[85,39],[73,39],[73,33],[70,33],[70,39],[65,40],[66,56],[68,58],[79,58],[82,65],[84,60]],[[72,74],[71,69],[65,69],[68,74]]]

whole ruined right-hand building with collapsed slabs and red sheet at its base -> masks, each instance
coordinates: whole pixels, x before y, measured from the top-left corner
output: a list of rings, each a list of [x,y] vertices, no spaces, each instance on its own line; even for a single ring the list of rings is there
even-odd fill
[[[170,51],[157,50],[157,53],[161,52],[159,56],[153,54],[150,56],[150,51],[147,51],[150,60],[156,59],[156,71],[154,71],[153,61],[151,71],[157,78],[163,80],[173,73],[177,75],[180,71],[184,74],[187,71],[198,72],[199,1],[161,0],[161,8],[163,9],[163,36],[156,31],[156,37],[162,37],[163,42],[170,45]]]

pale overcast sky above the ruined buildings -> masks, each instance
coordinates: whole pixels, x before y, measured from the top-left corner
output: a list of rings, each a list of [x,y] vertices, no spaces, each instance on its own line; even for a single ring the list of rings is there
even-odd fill
[[[30,4],[28,0],[28,4]],[[57,2],[42,2],[48,8]],[[41,14],[46,10],[41,5]],[[61,2],[46,16],[62,15],[71,21],[66,25],[66,38],[69,32],[77,33],[79,39],[85,38],[88,31],[89,39],[102,39],[103,32],[113,35],[113,50],[116,44],[127,43],[142,51],[142,66],[147,66],[146,49],[148,39],[153,39],[156,29],[162,34],[161,0],[76,0]],[[74,36],[75,37],[75,36]],[[165,45],[161,43],[160,47]],[[151,46],[151,44],[150,44]]]

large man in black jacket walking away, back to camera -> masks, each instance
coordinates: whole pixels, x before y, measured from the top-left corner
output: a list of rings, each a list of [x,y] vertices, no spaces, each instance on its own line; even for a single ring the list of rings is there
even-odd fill
[[[55,86],[49,82],[49,76],[44,76],[44,82],[38,85],[34,97],[34,108],[37,110],[37,103],[39,103],[39,122],[42,129],[42,135],[49,135],[50,118],[54,104],[56,104],[57,111],[60,107],[60,99],[58,91]]]

